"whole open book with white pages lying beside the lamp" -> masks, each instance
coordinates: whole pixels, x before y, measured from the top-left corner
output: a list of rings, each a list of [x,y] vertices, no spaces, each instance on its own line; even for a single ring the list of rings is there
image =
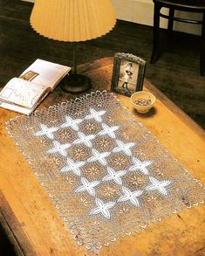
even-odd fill
[[[37,59],[19,78],[11,79],[3,87],[0,92],[0,107],[31,114],[70,70],[69,66]]]

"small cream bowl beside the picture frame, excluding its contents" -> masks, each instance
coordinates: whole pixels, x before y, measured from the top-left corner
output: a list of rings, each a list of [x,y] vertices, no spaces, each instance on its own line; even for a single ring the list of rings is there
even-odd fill
[[[141,105],[138,105],[136,103],[134,103],[134,100],[138,100],[138,99],[145,99],[145,100],[151,100],[151,103],[146,105],[146,106],[141,106]],[[153,107],[154,105],[154,102],[155,102],[155,97],[154,97],[154,94],[153,93],[149,93],[149,92],[145,92],[145,91],[140,91],[140,92],[136,92],[136,93],[133,93],[131,95],[131,98],[130,98],[131,102],[132,102],[132,105],[133,107],[139,112],[139,113],[147,113],[149,111],[149,109],[151,107]]]

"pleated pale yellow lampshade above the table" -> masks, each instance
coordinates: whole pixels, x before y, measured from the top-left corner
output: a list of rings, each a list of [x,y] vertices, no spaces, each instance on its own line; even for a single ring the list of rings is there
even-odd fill
[[[31,13],[32,28],[59,41],[98,38],[115,23],[111,0],[36,0]]]

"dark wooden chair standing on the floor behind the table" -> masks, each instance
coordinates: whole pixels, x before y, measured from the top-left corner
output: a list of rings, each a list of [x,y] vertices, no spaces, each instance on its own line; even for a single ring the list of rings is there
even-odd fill
[[[158,58],[159,51],[159,36],[160,36],[160,17],[168,19],[167,30],[173,31],[174,21],[202,24],[202,36],[201,36],[201,49],[200,49],[200,67],[201,74],[205,73],[205,0],[153,0],[154,2],[154,45],[153,53],[150,62],[154,63]],[[161,8],[168,8],[169,14],[165,15],[161,13]],[[181,17],[174,17],[174,10],[184,10],[190,12],[202,13],[202,21],[187,19]]]

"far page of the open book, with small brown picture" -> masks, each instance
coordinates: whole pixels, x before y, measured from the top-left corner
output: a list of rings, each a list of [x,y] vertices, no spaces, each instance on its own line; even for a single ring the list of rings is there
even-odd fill
[[[19,78],[30,80],[39,85],[51,87],[51,90],[71,70],[69,66],[63,66],[43,59],[37,59],[29,66]]]

